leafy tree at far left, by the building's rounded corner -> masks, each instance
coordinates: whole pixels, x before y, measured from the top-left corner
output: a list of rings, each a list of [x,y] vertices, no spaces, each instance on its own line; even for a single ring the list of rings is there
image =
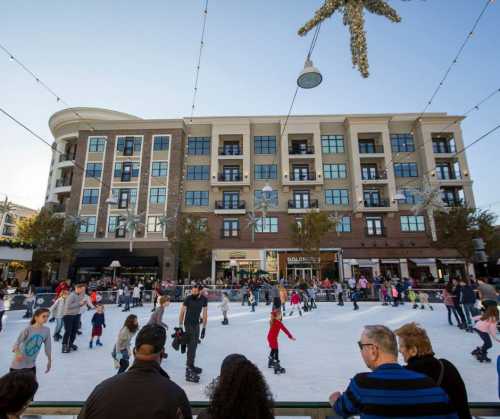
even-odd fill
[[[47,272],[53,265],[71,261],[78,238],[78,226],[55,217],[52,211],[44,208],[38,214],[17,223],[19,239],[32,243],[32,267]]]

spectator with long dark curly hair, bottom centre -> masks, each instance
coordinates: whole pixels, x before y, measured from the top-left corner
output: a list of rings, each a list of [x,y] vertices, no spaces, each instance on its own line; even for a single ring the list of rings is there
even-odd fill
[[[222,362],[220,376],[208,387],[210,403],[198,419],[273,419],[273,398],[262,373],[243,355]]]

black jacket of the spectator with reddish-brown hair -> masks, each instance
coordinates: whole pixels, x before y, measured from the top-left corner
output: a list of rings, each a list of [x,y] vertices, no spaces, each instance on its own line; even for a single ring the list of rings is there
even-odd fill
[[[439,360],[434,355],[415,356],[408,360],[406,368],[431,377],[448,394],[458,417],[460,419],[471,419],[467,390],[460,373],[450,361],[441,359],[441,362],[443,367],[441,367]],[[441,384],[439,384],[438,380],[442,368],[444,368],[443,378]]]

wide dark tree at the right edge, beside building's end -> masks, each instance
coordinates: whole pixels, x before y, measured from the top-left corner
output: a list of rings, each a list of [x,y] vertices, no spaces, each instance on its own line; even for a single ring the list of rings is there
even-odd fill
[[[476,208],[454,207],[447,214],[435,215],[438,248],[456,249],[467,262],[474,261],[472,239],[482,238],[486,252],[500,248],[500,238],[495,234],[496,215]]]

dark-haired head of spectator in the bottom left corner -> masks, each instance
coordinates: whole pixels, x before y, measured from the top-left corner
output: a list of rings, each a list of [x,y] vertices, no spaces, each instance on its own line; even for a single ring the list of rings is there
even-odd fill
[[[18,419],[38,390],[35,374],[11,371],[0,378],[0,418]]]

